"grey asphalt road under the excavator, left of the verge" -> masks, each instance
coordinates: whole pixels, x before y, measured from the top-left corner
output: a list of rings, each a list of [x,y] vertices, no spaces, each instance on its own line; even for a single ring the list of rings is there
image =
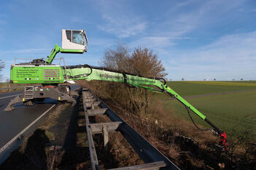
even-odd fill
[[[71,89],[77,89],[79,85],[71,85]],[[4,111],[10,100],[19,92],[9,92],[0,94],[0,148],[7,144],[13,137],[25,129],[29,124],[39,118],[53,105],[58,104],[58,100],[46,99],[44,102],[36,102],[33,107],[26,107],[22,102],[14,105],[15,110]]]

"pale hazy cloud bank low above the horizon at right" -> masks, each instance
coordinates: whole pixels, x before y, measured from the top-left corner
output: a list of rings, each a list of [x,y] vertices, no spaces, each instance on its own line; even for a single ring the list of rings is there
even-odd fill
[[[256,72],[256,31],[223,36],[201,49],[176,52],[179,53],[168,60],[168,71],[193,78],[206,76],[226,79],[255,78],[249,73]],[[170,56],[172,52],[170,52]],[[196,76],[195,76],[196,75]],[[178,76],[177,76],[178,78]]]

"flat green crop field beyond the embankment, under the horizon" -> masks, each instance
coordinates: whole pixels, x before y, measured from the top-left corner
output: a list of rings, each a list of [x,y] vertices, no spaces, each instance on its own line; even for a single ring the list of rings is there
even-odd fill
[[[256,81],[171,81],[168,85],[183,97],[213,94],[187,98],[195,108],[210,121],[229,134],[249,129],[256,139]],[[249,91],[252,89],[252,91]],[[244,91],[245,92],[239,92]],[[233,92],[229,94],[216,94]],[[163,94],[161,95],[163,98]],[[160,94],[158,94],[160,97]],[[190,120],[187,110],[177,100],[163,100],[166,110]],[[193,116],[197,124],[207,126],[198,116]]]

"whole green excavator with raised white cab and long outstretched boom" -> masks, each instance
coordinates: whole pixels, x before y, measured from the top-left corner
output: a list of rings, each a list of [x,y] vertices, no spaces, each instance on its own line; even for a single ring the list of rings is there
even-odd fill
[[[224,131],[212,124],[206,116],[199,110],[190,105],[177,92],[174,92],[167,86],[164,78],[146,78],[131,73],[118,72],[107,68],[93,67],[90,65],[71,65],[67,66],[61,57],[58,60],[63,65],[53,64],[53,60],[58,52],[61,53],[84,53],[88,49],[88,39],[84,30],[62,30],[62,47],[55,44],[55,48],[50,53],[47,60],[36,59],[30,62],[15,63],[11,66],[10,81],[13,84],[27,84],[23,94],[18,95],[9,102],[5,110],[13,110],[13,105],[23,102],[24,105],[35,105],[36,100],[53,98],[59,101],[71,102],[76,104],[74,97],[78,94],[71,91],[69,85],[64,82],[74,83],[76,80],[98,80],[98,81],[115,81],[127,84],[128,86],[144,88],[152,92],[168,94],[170,97],[177,99],[187,109],[190,116],[190,110],[199,116],[203,121],[212,126],[212,132],[221,139],[222,147],[227,147],[227,137]],[[40,86],[28,86],[29,84],[42,84]],[[190,116],[193,121],[192,117]],[[195,122],[193,124],[196,126]],[[198,126],[196,126],[200,129]]]

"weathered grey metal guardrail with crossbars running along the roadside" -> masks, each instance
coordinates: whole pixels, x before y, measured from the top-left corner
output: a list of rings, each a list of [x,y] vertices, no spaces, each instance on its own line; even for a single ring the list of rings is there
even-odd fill
[[[85,110],[85,123],[88,134],[88,144],[90,150],[90,160],[92,169],[99,169],[96,148],[94,147],[93,134],[104,135],[104,146],[108,147],[109,132],[120,131],[123,137],[138,153],[139,157],[144,161],[142,165],[128,166],[117,169],[179,169],[174,163],[160,153],[154,146],[150,144],[129,124],[123,121],[120,116],[111,110],[102,100],[95,97],[88,89],[82,90],[83,106]],[[97,101],[96,101],[97,100]],[[97,108],[101,106],[101,108]],[[106,115],[112,122],[90,124],[89,116]]]

